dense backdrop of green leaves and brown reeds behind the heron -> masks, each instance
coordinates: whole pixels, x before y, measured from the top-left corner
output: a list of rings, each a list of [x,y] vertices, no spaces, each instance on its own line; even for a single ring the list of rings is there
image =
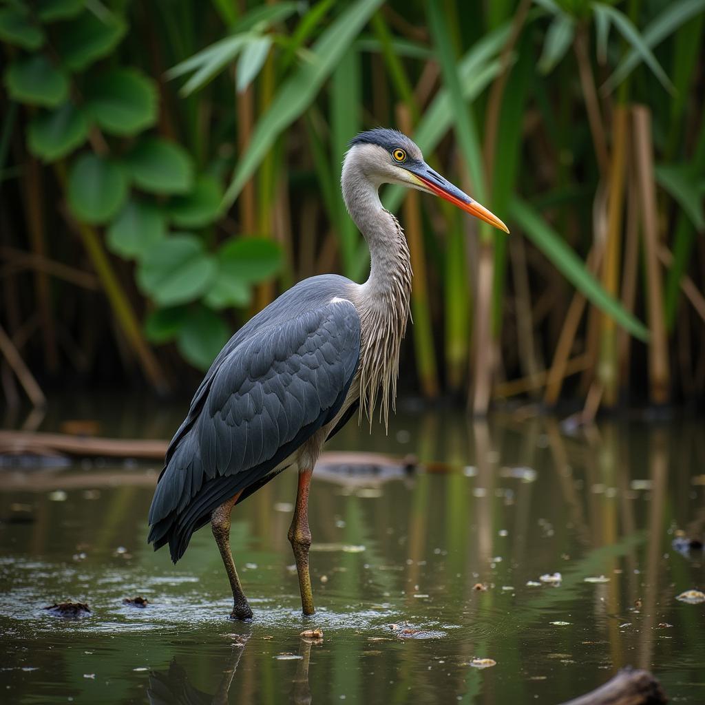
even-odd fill
[[[397,126],[503,219],[384,192],[403,386],[699,405],[705,0],[6,0],[0,380],[190,394],[300,278],[367,276],[339,177]]]

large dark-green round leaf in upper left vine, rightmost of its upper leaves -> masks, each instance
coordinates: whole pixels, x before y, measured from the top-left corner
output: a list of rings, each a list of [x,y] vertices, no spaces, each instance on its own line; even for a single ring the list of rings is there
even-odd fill
[[[94,120],[112,135],[136,135],[157,121],[157,88],[134,68],[113,68],[84,92]]]

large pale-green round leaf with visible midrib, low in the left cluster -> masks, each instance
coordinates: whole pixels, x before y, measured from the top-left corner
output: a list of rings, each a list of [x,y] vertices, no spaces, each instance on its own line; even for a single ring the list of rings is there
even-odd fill
[[[162,306],[199,298],[216,276],[216,263],[194,235],[172,235],[152,245],[137,269],[137,283]]]

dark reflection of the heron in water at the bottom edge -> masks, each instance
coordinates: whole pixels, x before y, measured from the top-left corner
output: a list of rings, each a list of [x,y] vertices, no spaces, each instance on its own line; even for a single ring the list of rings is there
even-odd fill
[[[238,670],[250,635],[238,637],[238,642],[233,644],[233,649],[223,675],[215,687],[214,694],[203,692],[194,687],[183,666],[173,658],[168,670],[154,671],[149,675],[149,689],[147,697],[149,705],[226,705],[235,671]],[[296,705],[311,704],[311,689],[309,687],[308,670],[311,658],[311,646],[314,642],[310,639],[301,639],[299,645],[299,661],[293,679],[293,702]]]

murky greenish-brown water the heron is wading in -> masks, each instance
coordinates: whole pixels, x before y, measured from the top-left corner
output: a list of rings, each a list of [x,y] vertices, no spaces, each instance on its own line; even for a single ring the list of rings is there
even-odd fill
[[[164,437],[182,412],[118,409],[67,403],[43,428],[97,416],[105,435]],[[207,529],[176,567],[147,546],[156,464],[0,468],[1,701],[557,704],[626,665],[705,701],[705,604],[676,599],[705,589],[703,553],[672,547],[705,528],[701,422],[567,436],[551,419],[407,410],[388,437],[348,427],[334,447],[427,467],[314,479],[309,619],[286,539],[295,478],[236,508],[250,625],[226,619]],[[123,604],[136,595],[149,606]],[[92,612],[42,611],[65,600]],[[314,627],[323,642],[300,638]]]

